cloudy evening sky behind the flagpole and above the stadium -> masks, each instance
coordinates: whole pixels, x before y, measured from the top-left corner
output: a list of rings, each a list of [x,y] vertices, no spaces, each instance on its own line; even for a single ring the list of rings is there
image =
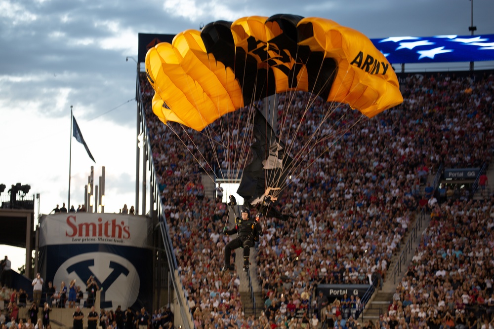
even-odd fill
[[[493,0],[474,0],[476,34],[494,34],[493,12]],[[94,165],[96,182],[106,169],[105,210],[130,207],[138,33],[278,13],[329,18],[370,38],[469,35],[471,1],[0,0],[0,183],[30,184],[43,214],[67,203],[73,106],[96,163],[72,139],[71,204],[83,203]]]

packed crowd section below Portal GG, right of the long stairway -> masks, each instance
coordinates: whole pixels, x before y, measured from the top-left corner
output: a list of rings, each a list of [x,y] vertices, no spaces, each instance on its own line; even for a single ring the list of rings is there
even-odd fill
[[[408,272],[376,327],[398,322],[407,329],[492,328],[493,227],[492,199],[449,199],[436,205]]]

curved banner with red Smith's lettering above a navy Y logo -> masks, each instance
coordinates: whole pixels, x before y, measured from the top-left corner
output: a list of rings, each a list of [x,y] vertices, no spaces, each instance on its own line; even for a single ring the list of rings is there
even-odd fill
[[[41,273],[59,288],[62,281],[85,291],[93,275],[101,307],[152,304],[152,222],[144,216],[70,213],[40,222]]]

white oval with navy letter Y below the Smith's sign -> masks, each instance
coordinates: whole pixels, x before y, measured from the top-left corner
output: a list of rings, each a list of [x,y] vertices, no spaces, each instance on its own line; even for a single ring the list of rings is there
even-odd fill
[[[60,287],[60,282],[76,279],[76,285],[84,292],[91,275],[101,290],[101,308],[132,305],[137,300],[140,280],[134,265],[110,253],[87,253],[69,258],[58,268],[53,284]]]

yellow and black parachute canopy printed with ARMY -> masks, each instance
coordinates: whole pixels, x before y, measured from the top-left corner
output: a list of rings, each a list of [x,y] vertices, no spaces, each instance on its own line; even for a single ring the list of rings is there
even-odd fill
[[[250,16],[177,34],[146,54],[153,111],[202,131],[267,96],[306,91],[372,117],[403,102],[384,55],[362,33],[324,18]]]

